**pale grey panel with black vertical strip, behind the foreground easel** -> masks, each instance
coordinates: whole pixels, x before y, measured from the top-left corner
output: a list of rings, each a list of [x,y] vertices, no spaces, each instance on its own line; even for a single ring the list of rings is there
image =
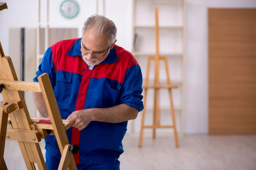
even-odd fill
[[[25,28],[23,35],[24,40],[22,40],[21,32],[22,28],[9,28],[9,56],[12,58],[18,80],[32,82],[37,70],[36,28]],[[24,44],[22,44],[23,42]],[[24,55],[22,55],[22,46],[24,47]],[[24,91],[23,94],[30,116],[35,117],[36,107],[32,97],[32,92]]]

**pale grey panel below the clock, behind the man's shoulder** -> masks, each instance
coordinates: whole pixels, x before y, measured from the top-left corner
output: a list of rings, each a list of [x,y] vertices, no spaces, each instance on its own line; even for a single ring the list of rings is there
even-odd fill
[[[49,28],[49,46],[61,40],[77,38],[77,28]],[[40,49],[41,55],[45,52],[45,30],[40,28]]]

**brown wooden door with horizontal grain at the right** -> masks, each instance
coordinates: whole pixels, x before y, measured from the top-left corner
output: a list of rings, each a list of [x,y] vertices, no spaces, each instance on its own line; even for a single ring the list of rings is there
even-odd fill
[[[208,10],[209,134],[256,134],[256,9]]]

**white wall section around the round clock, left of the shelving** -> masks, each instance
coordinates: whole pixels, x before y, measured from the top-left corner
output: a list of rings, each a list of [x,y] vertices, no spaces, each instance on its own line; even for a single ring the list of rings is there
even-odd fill
[[[78,16],[72,20],[65,19],[59,12],[62,0],[49,0],[49,27],[79,28],[81,30],[84,21],[90,15],[96,13],[95,0],[76,0],[80,5]],[[8,9],[0,12],[0,41],[5,54],[9,54],[9,28],[38,26],[38,0],[0,0],[6,2]],[[105,0],[105,16],[113,20],[118,28],[118,41],[116,44],[124,48],[131,48],[131,1],[129,0]],[[32,7],[31,7],[32,6]],[[120,8],[125,6],[126,8]],[[41,0],[41,24],[46,23],[46,0]],[[102,0],[99,0],[99,13],[102,14]],[[116,15],[118,14],[118,15]],[[81,36],[80,32],[79,35]],[[13,47],[14,48],[14,47]]]

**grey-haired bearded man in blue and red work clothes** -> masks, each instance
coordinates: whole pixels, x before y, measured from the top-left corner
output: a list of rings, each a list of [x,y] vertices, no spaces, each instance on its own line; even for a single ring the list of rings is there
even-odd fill
[[[44,54],[33,81],[49,74],[62,119],[70,120],[70,144],[78,169],[118,170],[124,152],[127,122],[143,110],[142,72],[134,56],[115,45],[116,26],[108,18],[87,19],[79,39],[62,40]],[[42,116],[48,117],[41,93],[34,94]],[[55,170],[61,154],[54,132],[45,139],[46,164]]]

